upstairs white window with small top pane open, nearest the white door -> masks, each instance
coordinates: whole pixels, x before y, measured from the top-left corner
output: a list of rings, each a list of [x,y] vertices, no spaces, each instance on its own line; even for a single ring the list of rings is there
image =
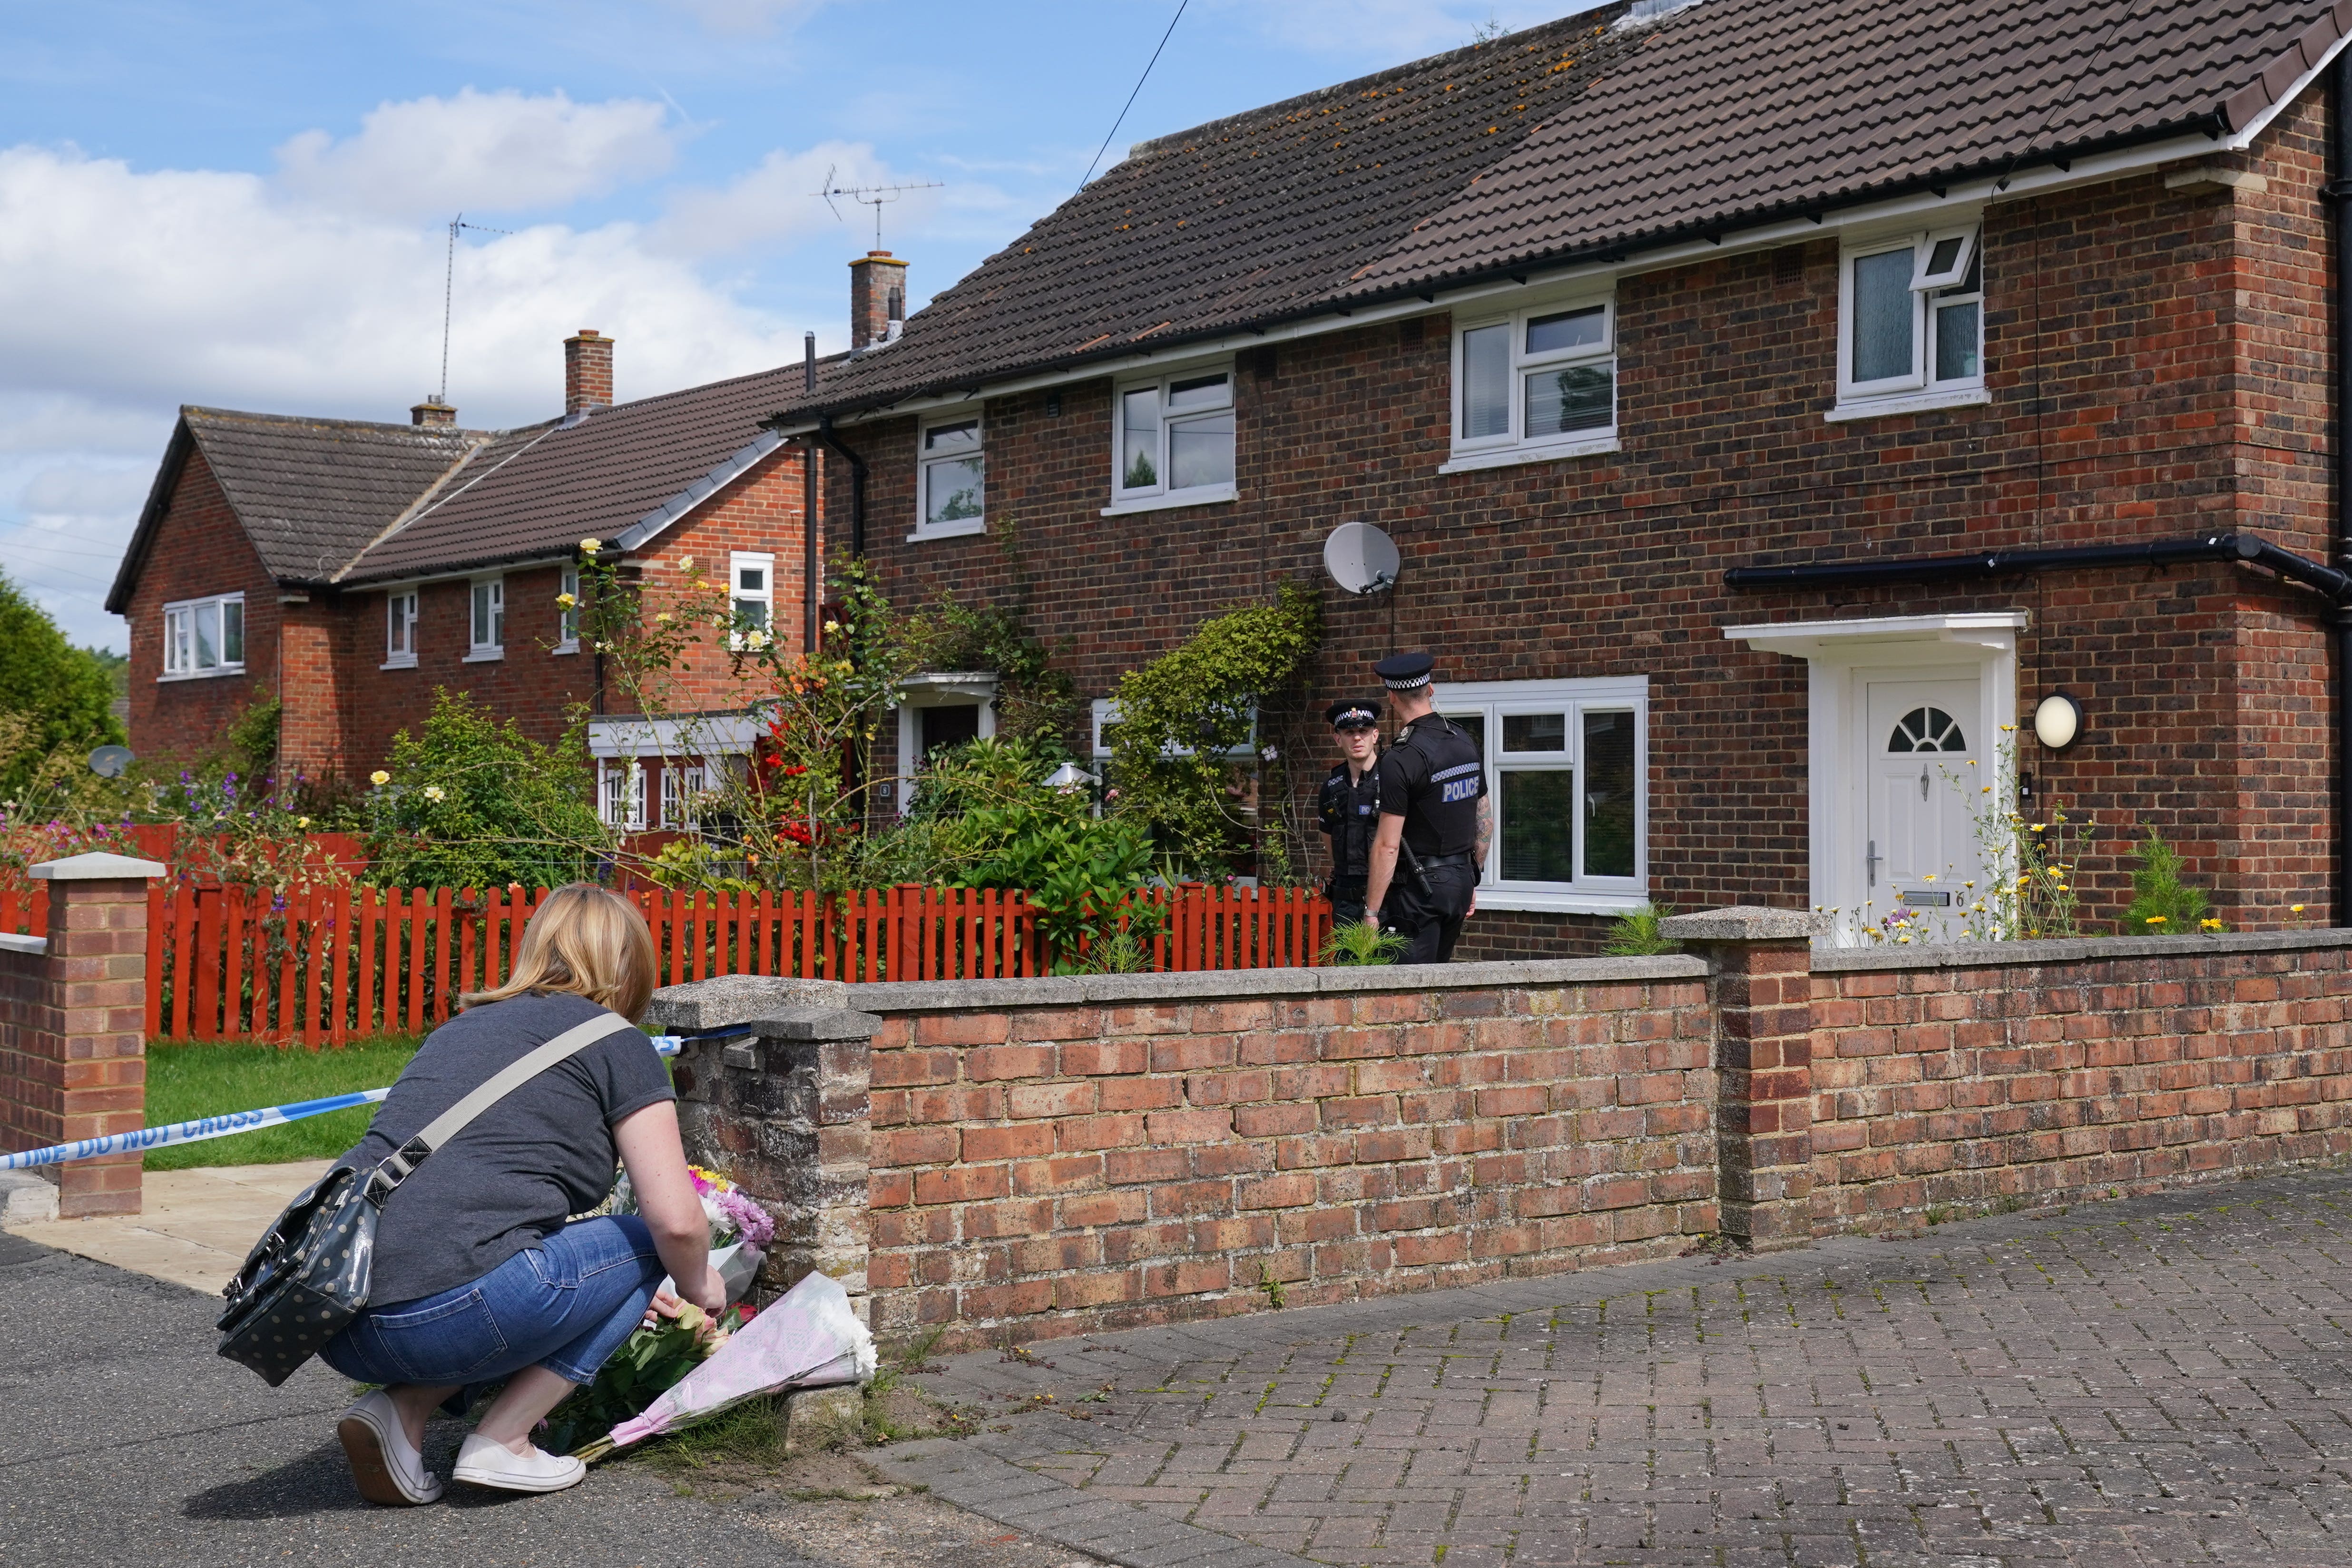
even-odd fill
[[[1985,259],[1973,223],[1844,247],[1832,418],[1985,400]]]

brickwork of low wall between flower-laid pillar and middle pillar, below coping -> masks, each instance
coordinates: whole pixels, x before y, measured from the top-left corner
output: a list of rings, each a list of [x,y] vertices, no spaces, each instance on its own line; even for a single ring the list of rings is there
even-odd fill
[[[1263,1279],[1308,1305],[1670,1255],[1717,1227],[1710,1027],[1696,976],[891,1013],[875,1328],[1035,1338],[1256,1309]]]

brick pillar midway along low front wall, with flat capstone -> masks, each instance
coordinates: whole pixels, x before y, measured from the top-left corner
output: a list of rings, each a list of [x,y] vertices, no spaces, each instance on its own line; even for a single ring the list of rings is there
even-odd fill
[[[1670,914],[1708,959],[1715,1004],[1715,1187],[1724,1234],[1757,1251],[1813,1239],[1813,917]]]

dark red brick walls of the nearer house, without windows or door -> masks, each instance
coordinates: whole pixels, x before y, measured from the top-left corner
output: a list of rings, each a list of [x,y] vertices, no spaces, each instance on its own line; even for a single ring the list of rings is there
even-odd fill
[[[2326,555],[2326,103],[2307,94],[2244,162],[2263,197],[2161,174],[1985,214],[1992,402],[1825,423],[1837,242],[1618,284],[1623,451],[1437,475],[1449,315],[1240,355],[1230,505],[1101,517],[1110,383],[997,397],[990,536],[908,543],[913,418],[854,425],[868,541],[901,602],[953,588],[1025,604],[1087,696],[1216,609],[1324,583],[1331,524],[1404,550],[1392,602],[1327,597],[1312,705],[1369,686],[1392,642],[1439,677],[1651,679],[1651,879],[1677,907],[1799,905],[1806,668],[1722,637],[1780,618],[2025,609],[2020,698],[2065,686],[2089,736],[2037,778],[2100,832],[2093,910],[2129,896],[2124,842],[2159,827],[2239,926],[2326,905],[2328,698],[2310,595],[2237,569],[2084,571],[1990,588],[1729,595],[1722,569],[1994,545],[2180,538],[2253,527]],[[844,465],[828,505],[849,505]],[[1277,729],[1282,729],[1277,724]],[[889,745],[891,736],[884,736]],[[1294,771],[1329,743],[1303,726]],[[1319,863],[1322,842],[1310,837]],[[1597,922],[1482,912],[1463,952],[1559,952]]]

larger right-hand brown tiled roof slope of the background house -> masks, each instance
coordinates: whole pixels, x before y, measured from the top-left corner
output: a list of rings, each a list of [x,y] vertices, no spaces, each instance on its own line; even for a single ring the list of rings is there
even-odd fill
[[[339,581],[496,567],[588,536],[633,548],[779,444],[760,421],[802,374],[790,364],[510,430]]]

